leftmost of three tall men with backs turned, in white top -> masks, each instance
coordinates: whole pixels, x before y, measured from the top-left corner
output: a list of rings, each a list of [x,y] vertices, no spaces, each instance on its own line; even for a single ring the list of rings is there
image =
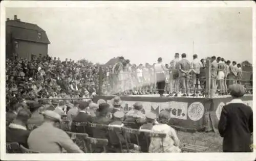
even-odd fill
[[[174,60],[172,60],[172,62],[170,62],[170,64],[172,64],[172,80],[173,81],[170,81],[170,84],[174,84],[174,93],[175,93],[175,97],[178,96],[178,92],[179,92],[179,69],[180,69],[180,54],[179,53],[175,53],[175,56],[174,56]],[[170,93],[168,95],[169,96],[172,96],[173,94]]]

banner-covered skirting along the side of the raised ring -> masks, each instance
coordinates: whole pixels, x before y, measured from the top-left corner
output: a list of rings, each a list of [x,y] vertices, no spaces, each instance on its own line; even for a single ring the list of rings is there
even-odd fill
[[[114,96],[95,96],[94,101],[104,99],[110,102]],[[145,113],[159,114],[163,109],[170,112],[170,125],[184,130],[217,131],[222,107],[231,100],[226,98],[193,98],[193,97],[140,97],[120,96],[123,111],[133,109],[133,104],[140,101]],[[252,107],[252,95],[242,98]]]

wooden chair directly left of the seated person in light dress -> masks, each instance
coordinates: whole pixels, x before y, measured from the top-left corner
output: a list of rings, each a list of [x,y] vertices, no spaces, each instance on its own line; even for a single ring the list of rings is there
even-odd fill
[[[132,143],[132,144],[136,144],[136,145],[140,146],[140,142],[139,142],[140,131],[138,129],[132,129],[132,128],[127,128],[127,127],[122,127],[122,130],[123,130],[123,136],[124,136],[127,152],[128,153],[129,152],[133,152],[133,153],[139,152],[134,149],[130,149],[129,144]]]

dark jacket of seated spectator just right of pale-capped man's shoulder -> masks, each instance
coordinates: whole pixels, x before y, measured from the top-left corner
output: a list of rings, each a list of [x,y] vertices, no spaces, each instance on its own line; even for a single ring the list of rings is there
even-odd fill
[[[73,122],[92,122],[92,117],[89,114],[80,111],[73,119]],[[88,126],[77,127],[72,124],[71,132],[87,133],[89,136],[91,135],[91,130]]]

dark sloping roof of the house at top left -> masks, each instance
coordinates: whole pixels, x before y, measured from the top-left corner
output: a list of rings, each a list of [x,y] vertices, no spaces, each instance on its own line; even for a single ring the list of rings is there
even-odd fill
[[[44,44],[51,43],[46,35],[46,32],[37,24],[27,23],[20,20],[7,20],[6,28],[11,30],[11,35],[14,39]],[[40,38],[38,33],[41,34]]]

